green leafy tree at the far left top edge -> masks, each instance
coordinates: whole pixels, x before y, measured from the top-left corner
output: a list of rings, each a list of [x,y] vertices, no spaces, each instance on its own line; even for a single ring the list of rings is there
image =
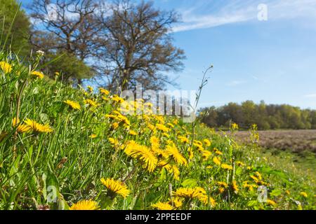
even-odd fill
[[[10,32],[12,22],[13,27]],[[5,45],[6,50],[11,49],[20,56],[26,56],[30,50],[29,33],[29,18],[25,11],[19,8],[18,2],[15,0],[0,0],[1,45],[4,45],[8,36]]]

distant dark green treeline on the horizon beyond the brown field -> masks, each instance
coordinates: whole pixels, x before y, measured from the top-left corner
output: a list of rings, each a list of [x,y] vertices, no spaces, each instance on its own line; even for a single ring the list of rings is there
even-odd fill
[[[258,125],[259,130],[275,129],[316,129],[316,111],[300,109],[286,104],[255,104],[246,101],[242,104],[229,103],[225,106],[201,109],[199,117],[210,127],[230,127],[237,123],[240,128],[248,129]]]

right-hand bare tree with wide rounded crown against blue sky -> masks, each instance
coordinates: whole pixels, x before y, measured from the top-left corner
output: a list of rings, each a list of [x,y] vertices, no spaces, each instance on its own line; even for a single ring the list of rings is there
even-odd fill
[[[140,83],[143,87],[161,90],[166,83],[174,84],[166,71],[183,68],[183,50],[176,48],[170,34],[178,15],[154,8],[152,2],[138,5],[117,1],[111,14],[100,20],[103,46],[99,54],[112,90],[126,90]]]

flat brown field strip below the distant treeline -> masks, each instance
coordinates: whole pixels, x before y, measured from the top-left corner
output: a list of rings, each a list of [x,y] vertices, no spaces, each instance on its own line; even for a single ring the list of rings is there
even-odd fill
[[[235,135],[237,141],[249,142],[249,132],[237,132]],[[316,130],[259,131],[259,136],[259,145],[263,148],[316,153]]]

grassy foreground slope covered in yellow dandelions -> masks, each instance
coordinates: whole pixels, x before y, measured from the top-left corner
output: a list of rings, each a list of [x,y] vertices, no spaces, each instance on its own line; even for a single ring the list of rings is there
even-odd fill
[[[255,126],[239,144],[237,125],[64,85],[40,60],[0,53],[0,209],[316,209],[315,179],[263,153]]]

